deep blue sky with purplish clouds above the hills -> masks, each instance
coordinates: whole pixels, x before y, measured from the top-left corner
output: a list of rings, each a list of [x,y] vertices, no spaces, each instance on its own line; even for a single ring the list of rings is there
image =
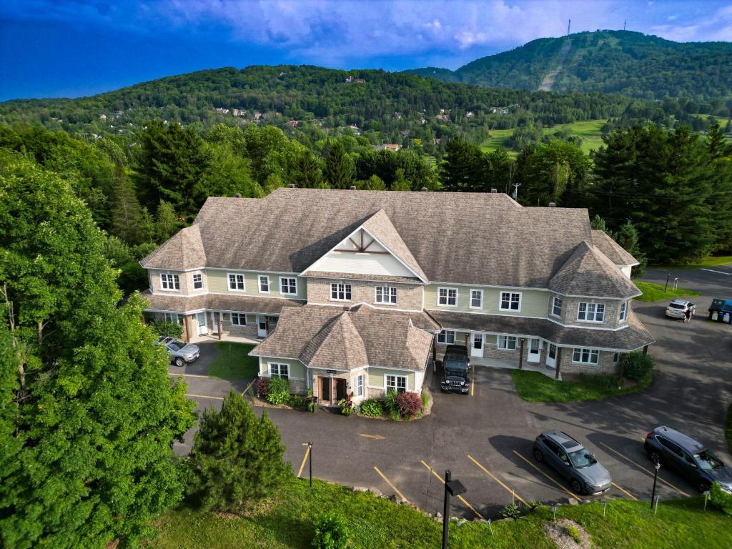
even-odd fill
[[[252,64],[455,69],[539,37],[732,41],[732,0],[4,0],[0,100]]]

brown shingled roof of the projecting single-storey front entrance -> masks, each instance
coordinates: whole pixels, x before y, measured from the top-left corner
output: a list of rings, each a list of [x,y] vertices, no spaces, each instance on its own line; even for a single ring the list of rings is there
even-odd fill
[[[381,310],[366,304],[350,310],[322,305],[287,307],[275,330],[250,354],[299,359],[308,366],[336,370],[365,366],[424,370],[433,335],[416,324],[439,329],[425,313]]]

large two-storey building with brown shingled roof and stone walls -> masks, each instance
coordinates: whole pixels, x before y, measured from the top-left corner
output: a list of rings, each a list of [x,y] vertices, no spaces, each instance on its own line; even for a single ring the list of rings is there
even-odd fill
[[[209,198],[141,261],[154,318],[258,338],[261,376],[325,404],[419,392],[452,343],[478,368],[617,373],[653,343],[631,310],[637,263],[586,209],[292,187]]]

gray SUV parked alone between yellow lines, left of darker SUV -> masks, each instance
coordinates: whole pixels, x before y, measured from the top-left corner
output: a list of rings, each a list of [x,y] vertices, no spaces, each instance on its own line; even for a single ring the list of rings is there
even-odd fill
[[[534,458],[555,468],[569,480],[575,493],[605,493],[613,482],[608,470],[597,462],[592,452],[562,431],[547,431],[537,436]]]

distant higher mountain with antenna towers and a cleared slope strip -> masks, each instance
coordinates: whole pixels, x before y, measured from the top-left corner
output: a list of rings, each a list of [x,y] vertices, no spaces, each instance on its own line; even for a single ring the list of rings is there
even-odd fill
[[[632,31],[539,38],[450,71],[408,70],[445,82],[544,91],[602,91],[661,100],[685,97],[721,106],[732,98],[731,42],[672,42]]]

